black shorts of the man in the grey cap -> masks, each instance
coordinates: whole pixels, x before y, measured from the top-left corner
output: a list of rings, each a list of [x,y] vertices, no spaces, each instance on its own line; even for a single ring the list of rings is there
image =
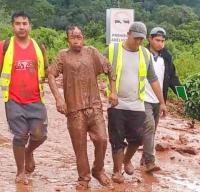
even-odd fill
[[[108,132],[113,152],[128,144],[142,145],[145,112],[109,108]]]

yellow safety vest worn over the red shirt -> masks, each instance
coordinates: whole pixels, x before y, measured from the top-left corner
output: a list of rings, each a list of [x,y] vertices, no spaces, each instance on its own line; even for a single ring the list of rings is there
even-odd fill
[[[41,98],[41,101],[44,102],[44,86],[43,86],[44,79],[45,79],[44,58],[38,44],[35,42],[34,39],[31,39],[31,40],[33,41],[33,45],[34,45],[37,59],[38,59],[38,81],[39,81],[40,98]],[[4,102],[7,102],[9,99],[9,86],[10,86],[10,80],[11,80],[13,56],[14,56],[14,37],[11,37],[8,49],[4,56],[3,69],[2,69],[1,81],[0,81]]]

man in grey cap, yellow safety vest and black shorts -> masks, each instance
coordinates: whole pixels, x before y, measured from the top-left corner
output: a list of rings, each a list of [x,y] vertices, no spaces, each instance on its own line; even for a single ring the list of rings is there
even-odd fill
[[[145,24],[134,22],[127,33],[127,40],[110,44],[105,51],[116,73],[119,102],[115,107],[108,107],[108,132],[114,162],[112,179],[116,183],[124,182],[123,163],[125,172],[128,175],[133,174],[131,158],[142,144],[146,78],[160,102],[162,115],[166,114],[165,102],[154,72],[150,52],[141,46],[146,34]]]

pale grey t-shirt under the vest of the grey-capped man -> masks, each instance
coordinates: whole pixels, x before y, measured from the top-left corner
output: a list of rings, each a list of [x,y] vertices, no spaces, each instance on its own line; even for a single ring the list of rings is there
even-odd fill
[[[139,99],[139,51],[122,50],[122,73],[116,109],[145,111],[144,102]],[[147,81],[157,80],[152,63],[147,64]]]

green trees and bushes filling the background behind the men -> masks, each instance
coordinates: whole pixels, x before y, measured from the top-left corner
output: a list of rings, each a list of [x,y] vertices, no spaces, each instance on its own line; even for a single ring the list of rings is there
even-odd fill
[[[154,26],[166,29],[166,46],[183,83],[200,71],[199,0],[0,0],[0,3],[0,39],[12,35],[12,13],[24,10],[32,18],[32,36],[47,45],[50,60],[67,46],[64,30],[69,24],[80,25],[86,44],[103,51],[106,9],[121,7],[134,9],[135,20],[146,23],[149,30]]]

